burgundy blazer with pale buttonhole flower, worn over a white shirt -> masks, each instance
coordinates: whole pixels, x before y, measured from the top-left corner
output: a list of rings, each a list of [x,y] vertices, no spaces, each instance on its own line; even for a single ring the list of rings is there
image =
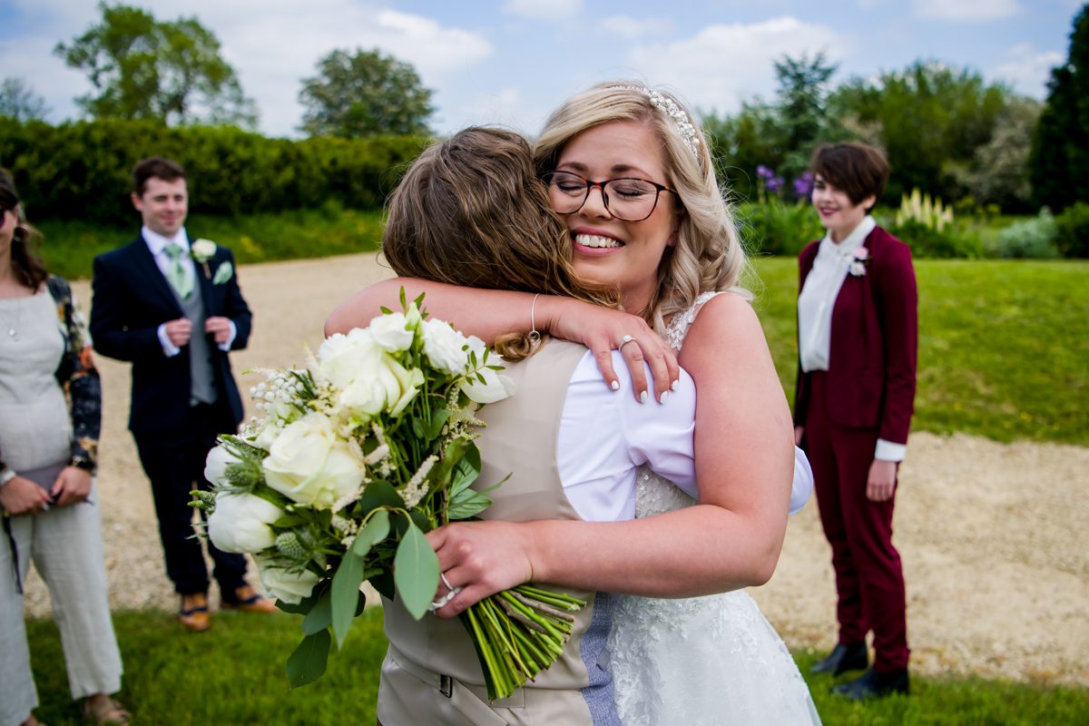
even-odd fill
[[[798,292],[812,270],[820,242],[798,256]],[[906,444],[915,410],[918,293],[911,250],[880,226],[862,243],[866,274],[847,274],[832,308],[829,417],[852,428],[877,428],[878,438]],[[798,361],[794,424],[805,426],[809,377]]]

